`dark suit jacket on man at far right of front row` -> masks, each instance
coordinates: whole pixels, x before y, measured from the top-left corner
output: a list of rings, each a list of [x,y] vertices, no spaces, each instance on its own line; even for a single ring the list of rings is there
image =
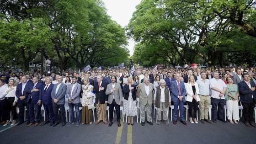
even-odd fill
[[[251,87],[256,87],[254,82],[251,82]],[[256,91],[251,91],[249,86],[246,84],[245,81],[241,81],[238,84],[238,89],[240,93],[240,101],[245,102],[245,103],[251,103],[252,98],[251,95],[253,96],[254,100],[256,101]]]

